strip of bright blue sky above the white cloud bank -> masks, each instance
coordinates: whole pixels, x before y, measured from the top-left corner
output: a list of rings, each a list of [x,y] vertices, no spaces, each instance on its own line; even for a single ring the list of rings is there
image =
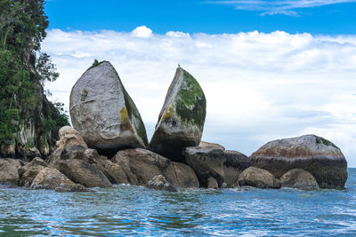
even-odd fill
[[[334,3],[334,4],[333,4]],[[323,35],[356,33],[356,1],[49,0],[50,28],[131,31],[146,25],[208,34],[258,30]]]

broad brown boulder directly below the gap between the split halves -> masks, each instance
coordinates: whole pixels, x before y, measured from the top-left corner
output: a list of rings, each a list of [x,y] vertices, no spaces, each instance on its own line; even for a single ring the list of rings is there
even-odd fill
[[[146,186],[155,176],[162,175],[177,186],[173,162],[162,155],[145,149],[127,149],[119,151],[111,160],[124,170],[131,185]]]

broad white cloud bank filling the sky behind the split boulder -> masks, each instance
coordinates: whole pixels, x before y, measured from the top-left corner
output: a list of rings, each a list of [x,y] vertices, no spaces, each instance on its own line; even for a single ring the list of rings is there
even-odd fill
[[[47,85],[53,99],[68,106],[93,60],[109,60],[150,137],[179,63],[206,93],[205,140],[249,155],[271,139],[316,133],[356,167],[356,36],[149,35],[50,30],[42,49],[61,73]]]

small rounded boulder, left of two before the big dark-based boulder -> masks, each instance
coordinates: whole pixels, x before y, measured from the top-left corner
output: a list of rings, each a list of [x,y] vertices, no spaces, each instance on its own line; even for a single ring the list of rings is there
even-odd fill
[[[279,188],[279,179],[267,171],[249,167],[239,175],[238,186],[255,186],[260,188]]]

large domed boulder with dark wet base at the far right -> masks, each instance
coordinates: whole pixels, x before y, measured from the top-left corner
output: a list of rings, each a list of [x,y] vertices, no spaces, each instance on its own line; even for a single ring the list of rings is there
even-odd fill
[[[250,156],[254,166],[280,178],[288,170],[306,170],[320,188],[342,188],[347,180],[347,162],[332,142],[315,135],[285,138],[263,145]]]

